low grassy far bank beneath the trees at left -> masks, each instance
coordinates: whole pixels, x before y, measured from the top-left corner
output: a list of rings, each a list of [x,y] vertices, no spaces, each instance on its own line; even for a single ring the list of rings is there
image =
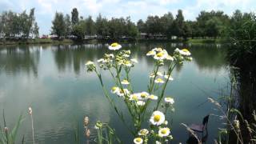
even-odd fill
[[[0,45],[20,45],[20,44],[63,44],[63,43],[74,43],[71,39],[26,39],[26,40],[0,40]]]

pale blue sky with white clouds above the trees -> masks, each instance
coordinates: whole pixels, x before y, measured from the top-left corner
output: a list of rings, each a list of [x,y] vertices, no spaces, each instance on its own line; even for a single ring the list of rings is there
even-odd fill
[[[255,0],[0,0],[0,12],[12,10],[22,12],[35,8],[35,17],[39,33],[49,34],[51,21],[56,11],[70,14],[76,7],[79,16],[91,15],[94,19],[98,14],[106,18],[130,16],[133,22],[145,20],[148,15],[162,16],[167,12],[177,14],[181,9],[186,20],[194,20],[201,10],[222,10],[233,14],[234,10],[255,12]]]

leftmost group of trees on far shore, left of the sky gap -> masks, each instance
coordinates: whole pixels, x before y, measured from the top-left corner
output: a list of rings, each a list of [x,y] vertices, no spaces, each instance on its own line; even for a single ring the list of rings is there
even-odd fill
[[[35,21],[34,8],[26,14],[4,11],[0,14],[0,38],[34,38],[39,35],[38,23]]]

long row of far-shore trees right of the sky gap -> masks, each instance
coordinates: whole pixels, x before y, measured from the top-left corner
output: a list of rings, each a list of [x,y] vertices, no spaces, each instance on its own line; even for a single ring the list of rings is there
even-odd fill
[[[242,14],[235,10],[233,16],[229,17],[223,11],[201,11],[194,21],[185,21],[182,10],[178,10],[175,16],[172,13],[159,17],[148,16],[145,21],[139,19],[135,24],[127,18],[102,18],[99,14],[95,22],[89,16],[83,18],[78,16],[78,10],[74,8],[64,17],[62,13],[56,13],[52,26],[52,34],[58,37],[84,38],[95,36],[96,38],[220,38],[225,35],[226,29],[232,26],[236,15]],[[244,13],[245,15],[250,15]]]

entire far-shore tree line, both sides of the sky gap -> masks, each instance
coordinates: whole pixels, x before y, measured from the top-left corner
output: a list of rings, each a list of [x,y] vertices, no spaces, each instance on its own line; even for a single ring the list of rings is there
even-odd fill
[[[253,13],[235,10],[232,16],[223,11],[201,11],[194,21],[186,21],[182,10],[178,14],[150,15],[146,20],[134,23],[130,17],[105,18],[101,14],[94,20],[91,16],[79,16],[74,8],[70,14],[55,13],[51,34],[56,38],[98,38],[98,39],[170,39],[170,38],[221,38],[234,24],[239,15],[253,17]],[[242,19],[236,19],[242,22]],[[0,38],[38,37],[38,24],[35,22],[34,9],[26,14],[5,11],[0,14]],[[175,36],[175,37],[174,37]]]

